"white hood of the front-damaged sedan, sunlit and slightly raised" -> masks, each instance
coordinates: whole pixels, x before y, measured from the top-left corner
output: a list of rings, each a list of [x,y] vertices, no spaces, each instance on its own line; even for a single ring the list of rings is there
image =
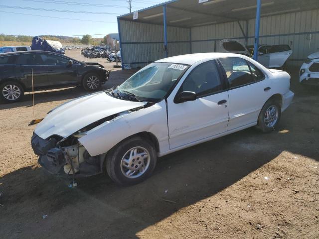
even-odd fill
[[[106,92],[90,94],[53,109],[37,124],[34,132],[43,139],[54,134],[65,138],[99,119],[145,104],[116,99]]]

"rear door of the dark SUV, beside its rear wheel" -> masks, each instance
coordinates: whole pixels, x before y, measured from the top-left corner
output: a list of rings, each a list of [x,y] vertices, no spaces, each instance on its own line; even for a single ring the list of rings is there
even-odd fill
[[[14,71],[26,88],[32,89],[32,71],[34,88],[47,88],[49,85],[47,68],[43,65],[39,53],[16,55]]]

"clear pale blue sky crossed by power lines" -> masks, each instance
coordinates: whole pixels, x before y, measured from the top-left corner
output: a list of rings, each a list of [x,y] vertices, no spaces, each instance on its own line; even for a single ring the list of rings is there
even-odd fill
[[[132,11],[164,1],[132,0]],[[0,34],[103,37],[118,32],[117,16],[129,13],[128,7],[128,0],[0,0]]]

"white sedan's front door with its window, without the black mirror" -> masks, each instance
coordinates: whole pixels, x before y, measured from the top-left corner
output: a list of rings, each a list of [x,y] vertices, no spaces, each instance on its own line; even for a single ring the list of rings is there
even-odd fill
[[[177,93],[167,98],[170,149],[226,132],[228,93],[216,61],[204,62],[185,78]],[[195,92],[197,99],[174,103],[183,91]]]

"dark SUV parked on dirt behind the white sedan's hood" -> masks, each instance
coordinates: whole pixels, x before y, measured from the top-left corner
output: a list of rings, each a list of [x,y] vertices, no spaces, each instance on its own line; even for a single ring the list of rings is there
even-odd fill
[[[0,99],[19,101],[25,91],[82,86],[97,91],[110,72],[98,63],[86,63],[48,51],[0,55]]]

